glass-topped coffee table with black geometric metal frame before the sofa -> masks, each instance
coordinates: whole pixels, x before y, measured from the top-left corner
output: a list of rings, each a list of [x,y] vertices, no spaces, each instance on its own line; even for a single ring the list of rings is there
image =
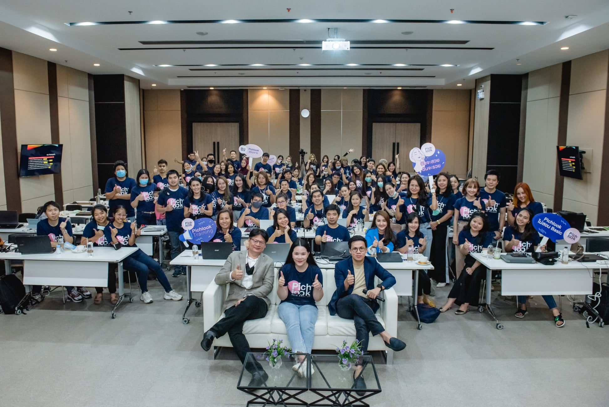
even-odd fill
[[[306,374],[300,377],[292,370],[292,358],[282,358],[281,366],[272,369],[264,353],[248,353],[237,384],[238,390],[253,396],[246,405],[368,406],[364,399],[381,392],[370,355],[360,358],[366,388],[357,390],[353,383],[355,366],[340,369],[336,355],[306,355],[305,360]],[[253,373],[261,378],[259,383],[251,383]]]

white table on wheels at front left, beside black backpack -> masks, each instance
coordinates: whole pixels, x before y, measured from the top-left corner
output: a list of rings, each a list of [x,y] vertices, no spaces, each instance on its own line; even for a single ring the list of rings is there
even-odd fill
[[[0,253],[0,259],[5,261],[6,272],[10,274],[10,261],[23,261],[23,283],[26,285],[76,286],[76,287],[107,287],[108,263],[118,264],[118,302],[112,308],[111,317],[116,317],[116,308],[125,296],[122,261],[136,252],[137,247],[95,247],[93,257],[84,253],[48,253],[22,255],[21,253]],[[129,296],[133,302],[133,296]]]

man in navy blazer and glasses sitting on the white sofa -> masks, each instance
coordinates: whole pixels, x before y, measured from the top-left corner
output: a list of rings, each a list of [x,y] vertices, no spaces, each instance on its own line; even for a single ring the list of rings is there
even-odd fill
[[[398,338],[392,338],[375,316],[379,309],[376,297],[382,290],[395,284],[395,277],[382,268],[376,259],[366,257],[367,246],[364,236],[349,239],[351,257],[334,266],[336,291],[328,303],[328,310],[330,315],[338,314],[341,318],[353,319],[356,339],[362,343],[362,352],[368,351],[370,332],[381,335],[389,349],[400,351],[406,344]],[[375,276],[382,280],[378,286],[375,286]],[[356,389],[366,388],[364,378],[360,375],[362,369],[363,366],[358,363],[353,375]]]

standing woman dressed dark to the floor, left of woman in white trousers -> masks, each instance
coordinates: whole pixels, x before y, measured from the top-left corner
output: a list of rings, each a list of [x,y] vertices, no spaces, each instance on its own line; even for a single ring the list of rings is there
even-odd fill
[[[434,265],[434,269],[429,271],[429,275],[437,283],[436,287],[445,287],[448,279],[448,223],[452,219],[454,212],[454,195],[449,184],[450,175],[447,172],[440,172],[435,176],[437,188],[436,198],[438,207],[431,213],[431,234],[434,239],[431,243],[429,261]]]

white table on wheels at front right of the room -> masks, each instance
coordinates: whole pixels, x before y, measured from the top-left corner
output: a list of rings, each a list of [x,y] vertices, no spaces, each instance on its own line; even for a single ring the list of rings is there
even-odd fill
[[[558,261],[552,266],[545,266],[541,263],[506,263],[501,259],[488,258],[483,253],[473,253],[471,256],[487,267],[486,303],[481,304],[478,311],[487,308],[497,329],[502,329],[503,325],[491,308],[490,281],[493,270],[501,270],[502,296],[565,296],[592,294],[593,271],[608,268],[607,264],[597,262],[569,261],[569,264],[562,264]]]

